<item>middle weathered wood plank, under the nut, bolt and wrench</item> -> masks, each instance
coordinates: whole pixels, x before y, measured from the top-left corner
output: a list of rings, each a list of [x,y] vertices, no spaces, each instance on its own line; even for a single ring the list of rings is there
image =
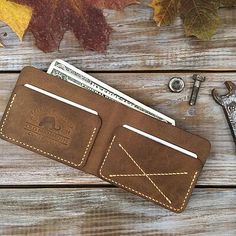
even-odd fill
[[[236,82],[236,73],[204,73],[199,100],[188,105],[192,86],[190,73],[95,73],[94,77],[159,110],[177,121],[177,126],[202,135],[212,143],[211,155],[198,185],[236,185],[236,157],[230,129],[223,111],[211,97],[213,88],[224,88],[223,81]],[[182,76],[186,88],[170,93],[167,84],[172,76]],[[0,74],[0,116],[18,74]],[[0,185],[101,184],[100,179],[63,164],[0,141]]]

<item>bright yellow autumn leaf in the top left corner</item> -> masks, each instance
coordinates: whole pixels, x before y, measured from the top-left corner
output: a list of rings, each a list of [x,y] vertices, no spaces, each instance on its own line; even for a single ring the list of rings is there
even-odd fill
[[[29,7],[7,0],[0,0],[0,21],[5,22],[21,40],[29,25],[31,16],[32,10]]]

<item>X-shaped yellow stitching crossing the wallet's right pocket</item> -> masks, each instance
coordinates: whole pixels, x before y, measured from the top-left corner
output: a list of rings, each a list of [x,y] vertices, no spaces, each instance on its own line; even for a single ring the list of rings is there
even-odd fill
[[[170,175],[187,175],[188,172],[173,172],[173,173],[146,173],[141,166],[134,160],[134,158],[128,153],[128,151],[119,144],[119,147],[124,151],[124,153],[130,158],[130,160],[138,167],[142,174],[113,174],[110,177],[146,177],[149,182],[157,189],[157,191],[171,204],[171,200],[161,191],[161,189],[153,182],[150,176],[170,176]]]

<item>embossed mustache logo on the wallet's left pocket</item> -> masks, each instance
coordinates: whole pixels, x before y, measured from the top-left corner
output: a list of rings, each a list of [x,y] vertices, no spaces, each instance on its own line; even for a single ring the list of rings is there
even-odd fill
[[[71,142],[74,125],[64,116],[53,110],[37,108],[31,112],[24,129],[26,135],[68,146]]]

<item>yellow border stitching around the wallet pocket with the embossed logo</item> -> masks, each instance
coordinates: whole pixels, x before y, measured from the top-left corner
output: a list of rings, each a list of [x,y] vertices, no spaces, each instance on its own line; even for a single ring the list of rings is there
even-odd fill
[[[81,166],[81,165],[83,164],[83,162],[84,162],[84,159],[85,159],[85,157],[86,157],[86,154],[87,154],[88,149],[89,149],[89,147],[90,147],[90,145],[91,145],[91,142],[92,142],[92,140],[93,140],[93,136],[94,136],[94,134],[95,134],[97,128],[94,128],[94,129],[93,129],[92,135],[91,135],[91,137],[90,137],[90,139],[89,139],[88,145],[86,146],[86,149],[85,149],[85,152],[84,152],[84,155],[83,155],[83,158],[82,158],[81,162],[80,162],[79,164],[75,164],[74,162],[65,160],[65,159],[63,159],[63,158],[61,158],[61,157],[58,157],[58,156],[52,154],[52,153],[45,152],[45,151],[43,151],[43,150],[41,150],[41,149],[39,149],[39,148],[36,148],[36,147],[31,146],[31,145],[29,145],[29,144],[23,143],[23,142],[18,141],[18,140],[14,139],[14,138],[10,138],[10,137],[8,137],[7,135],[5,135],[5,134],[3,133],[3,128],[4,128],[5,124],[6,124],[7,118],[8,118],[8,116],[9,116],[9,113],[10,113],[11,108],[12,108],[12,106],[13,106],[13,103],[14,103],[14,101],[15,101],[15,98],[16,98],[16,94],[14,94],[14,96],[12,97],[12,100],[11,100],[11,103],[10,103],[10,105],[9,105],[9,108],[8,108],[8,110],[7,110],[7,112],[6,112],[5,118],[3,119],[2,126],[1,126],[1,129],[0,129],[0,134],[1,134],[4,138],[6,138],[6,139],[9,139],[9,140],[11,140],[11,141],[13,141],[13,142],[15,142],[15,143],[19,143],[19,144],[21,144],[21,145],[23,145],[23,146],[25,146],[25,147],[28,147],[28,148],[33,149],[33,150],[36,150],[36,151],[38,151],[38,152],[41,152],[42,154],[48,155],[48,156],[50,156],[50,157],[54,157],[54,158],[56,158],[56,159],[58,159],[58,160],[60,160],[60,161],[63,161],[63,162],[65,162],[65,163],[68,163],[68,164],[73,165],[73,166],[76,166],[76,167]]]

